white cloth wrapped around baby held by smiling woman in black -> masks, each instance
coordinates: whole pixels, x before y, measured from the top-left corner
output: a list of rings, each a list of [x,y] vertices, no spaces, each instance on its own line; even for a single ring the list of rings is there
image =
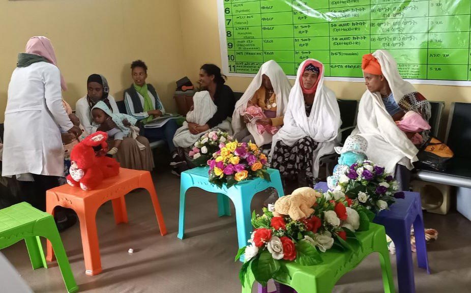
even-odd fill
[[[196,123],[198,125],[204,125],[210,120],[217,111],[217,107],[211,99],[210,93],[208,91],[197,92],[193,96],[193,111],[189,111],[186,116],[186,121],[183,123],[183,126],[176,130],[175,135],[173,136],[173,144],[176,147],[189,148],[206,132],[210,130],[198,133],[191,134],[188,129],[188,122]],[[221,130],[227,131],[229,134],[232,134],[232,129],[230,123],[227,120],[224,120],[221,124],[216,126]]]

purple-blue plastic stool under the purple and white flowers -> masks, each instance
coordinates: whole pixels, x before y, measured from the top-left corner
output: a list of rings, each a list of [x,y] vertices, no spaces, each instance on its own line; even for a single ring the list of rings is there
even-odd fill
[[[314,189],[328,190],[327,183],[319,182]],[[386,234],[391,237],[396,246],[397,280],[400,293],[414,293],[414,263],[410,248],[410,227],[414,225],[417,248],[417,263],[419,268],[428,266],[427,247],[425,246],[424,219],[422,204],[418,192],[404,191],[404,199],[396,199],[390,210],[376,215],[373,222],[385,226]]]

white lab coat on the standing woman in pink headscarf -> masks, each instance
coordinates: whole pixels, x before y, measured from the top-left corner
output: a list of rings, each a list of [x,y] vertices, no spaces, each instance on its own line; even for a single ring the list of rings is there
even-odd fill
[[[72,127],[59,69],[47,62],[16,68],[8,86],[2,175],[64,176],[61,131]]]

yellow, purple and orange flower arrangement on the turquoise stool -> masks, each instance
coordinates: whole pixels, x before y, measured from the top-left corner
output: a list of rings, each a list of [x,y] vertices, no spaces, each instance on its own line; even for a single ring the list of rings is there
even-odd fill
[[[227,188],[243,180],[263,178],[270,181],[267,172],[267,156],[262,154],[255,143],[230,141],[221,142],[219,150],[207,161],[210,166],[209,181]]]

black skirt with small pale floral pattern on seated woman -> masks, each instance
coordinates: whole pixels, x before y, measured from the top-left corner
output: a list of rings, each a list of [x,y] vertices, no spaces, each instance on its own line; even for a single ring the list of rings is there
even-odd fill
[[[316,180],[312,173],[312,158],[317,145],[310,137],[301,138],[292,147],[279,140],[275,145],[271,167],[278,169],[281,176],[288,180],[300,181],[300,176],[305,177],[308,186],[313,187]]]

